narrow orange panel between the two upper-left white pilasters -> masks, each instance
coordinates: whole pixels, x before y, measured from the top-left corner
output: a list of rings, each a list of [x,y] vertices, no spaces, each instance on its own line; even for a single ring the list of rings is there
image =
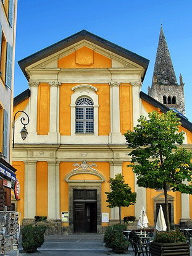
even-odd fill
[[[49,132],[50,86],[40,83],[38,86],[37,133],[46,135]]]

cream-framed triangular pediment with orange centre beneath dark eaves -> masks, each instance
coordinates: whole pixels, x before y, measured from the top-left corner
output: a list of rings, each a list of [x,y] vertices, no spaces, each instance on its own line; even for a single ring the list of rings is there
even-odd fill
[[[141,66],[122,58],[117,54],[107,51],[86,40],[51,54],[27,67],[27,69],[41,68],[110,68],[127,67],[130,69],[141,69]]]

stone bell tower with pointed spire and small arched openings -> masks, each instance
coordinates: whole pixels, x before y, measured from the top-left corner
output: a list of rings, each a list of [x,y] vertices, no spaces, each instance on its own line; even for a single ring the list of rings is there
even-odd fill
[[[152,85],[151,88],[148,87],[148,95],[165,106],[175,108],[185,114],[184,83],[181,74],[179,78],[180,83],[178,84],[161,26]]]

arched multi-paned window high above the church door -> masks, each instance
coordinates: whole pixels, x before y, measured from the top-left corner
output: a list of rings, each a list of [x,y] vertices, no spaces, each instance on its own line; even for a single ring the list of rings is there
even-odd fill
[[[75,107],[75,132],[93,134],[94,132],[93,101],[90,98],[80,98]]]

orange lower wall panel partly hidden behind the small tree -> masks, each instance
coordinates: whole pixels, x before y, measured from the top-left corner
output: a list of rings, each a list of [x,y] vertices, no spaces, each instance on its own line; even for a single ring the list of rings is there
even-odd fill
[[[130,162],[122,163],[122,175],[124,177],[125,183],[131,187],[131,192],[135,192],[135,174],[131,167],[127,167]],[[125,216],[135,216],[135,206],[130,205],[129,207],[122,207],[122,218]]]

